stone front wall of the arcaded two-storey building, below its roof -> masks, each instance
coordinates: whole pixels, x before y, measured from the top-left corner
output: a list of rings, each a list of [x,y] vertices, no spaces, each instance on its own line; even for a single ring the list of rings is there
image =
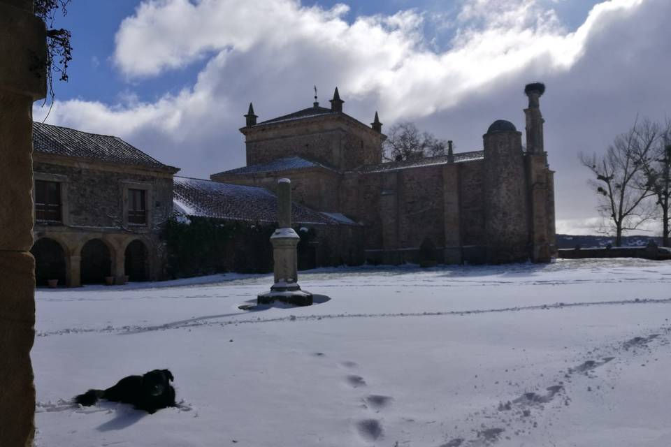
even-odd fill
[[[33,170],[35,182],[58,185],[60,205],[59,219],[35,213],[38,286],[50,279],[80,286],[106,277],[116,284],[127,277],[164,278],[166,253],[159,235],[173,210],[176,168],[36,151]],[[131,191],[142,191],[141,223],[129,217]]]

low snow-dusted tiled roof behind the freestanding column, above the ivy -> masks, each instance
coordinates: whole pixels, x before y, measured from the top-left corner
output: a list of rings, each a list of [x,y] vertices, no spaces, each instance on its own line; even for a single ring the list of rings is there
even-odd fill
[[[277,196],[259,186],[179,176],[173,177],[173,185],[175,210],[189,216],[268,223],[277,221]],[[316,212],[296,203],[291,206],[291,214],[295,223],[348,223],[342,218],[335,219],[326,213]]]

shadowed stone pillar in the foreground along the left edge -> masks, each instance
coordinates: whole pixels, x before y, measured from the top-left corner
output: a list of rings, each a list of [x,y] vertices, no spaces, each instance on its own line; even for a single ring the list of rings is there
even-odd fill
[[[35,388],[32,105],[46,94],[46,34],[32,0],[0,0],[0,444],[30,446]]]

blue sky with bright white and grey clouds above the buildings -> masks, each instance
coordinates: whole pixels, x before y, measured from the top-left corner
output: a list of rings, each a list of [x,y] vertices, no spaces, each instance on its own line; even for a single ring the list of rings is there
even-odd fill
[[[338,86],[362,122],[378,110],[384,128],[411,120],[461,152],[496,119],[523,130],[522,90],[540,80],[558,230],[591,233],[577,156],[637,115],[671,115],[668,17],[669,0],[75,0],[57,23],[73,34],[70,81],[46,122],[208,178],[244,165],[250,101],[270,119]]]

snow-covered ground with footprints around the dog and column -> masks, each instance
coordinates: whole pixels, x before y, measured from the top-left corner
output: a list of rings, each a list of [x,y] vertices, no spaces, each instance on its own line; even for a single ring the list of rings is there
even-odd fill
[[[671,262],[313,270],[38,290],[36,445],[671,445]],[[178,408],[68,400],[169,368]]]

